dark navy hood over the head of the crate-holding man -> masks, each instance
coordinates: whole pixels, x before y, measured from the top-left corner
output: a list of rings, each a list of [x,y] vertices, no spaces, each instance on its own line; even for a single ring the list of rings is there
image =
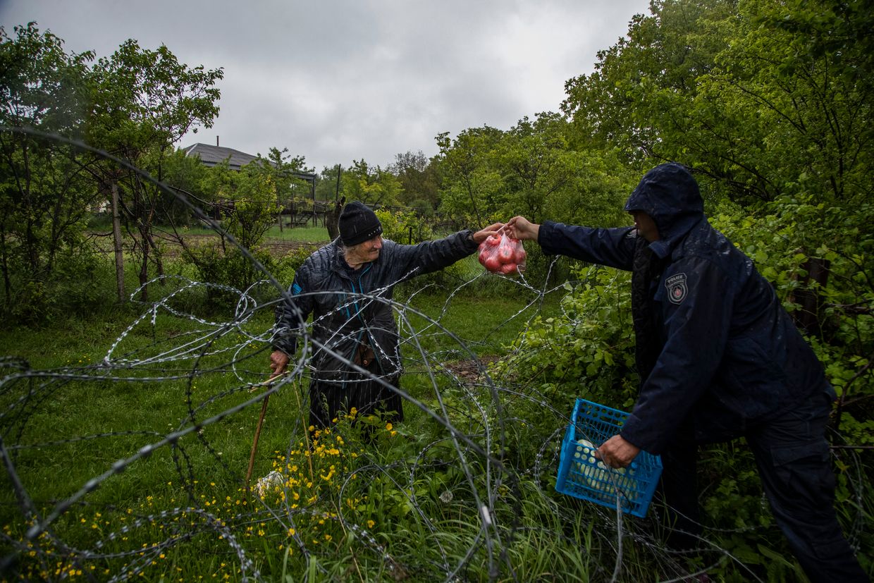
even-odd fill
[[[660,239],[649,244],[666,257],[676,241],[704,218],[704,199],[698,184],[683,164],[664,163],[649,170],[625,203],[628,212],[646,212],[658,227]]]

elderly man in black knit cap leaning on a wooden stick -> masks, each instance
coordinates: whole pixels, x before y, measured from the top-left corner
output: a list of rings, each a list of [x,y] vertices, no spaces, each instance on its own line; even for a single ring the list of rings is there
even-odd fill
[[[502,225],[400,245],[382,238],[376,213],[359,202],[343,207],[337,223],[339,238],[304,261],[289,289],[291,300],[278,310],[270,368],[274,374],[285,371],[312,314],[309,424],[328,427],[338,413],[352,408],[403,420],[402,399],[385,386],[397,387],[401,374],[390,304],[394,286],[467,257]]]

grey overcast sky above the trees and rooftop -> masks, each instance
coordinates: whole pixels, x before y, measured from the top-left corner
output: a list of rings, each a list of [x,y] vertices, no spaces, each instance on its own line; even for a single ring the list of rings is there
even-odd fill
[[[212,128],[177,144],[288,148],[321,171],[386,167],[434,137],[558,111],[649,0],[0,0],[0,24],[36,21],[67,52],[128,38],[188,66],[222,67]]]

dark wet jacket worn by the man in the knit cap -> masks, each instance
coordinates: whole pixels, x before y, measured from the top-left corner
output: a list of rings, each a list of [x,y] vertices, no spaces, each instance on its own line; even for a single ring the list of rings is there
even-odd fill
[[[323,246],[295,273],[291,301],[278,309],[274,349],[293,355],[302,336],[301,323],[312,314],[312,337],[324,347],[313,347],[314,382],[364,380],[348,364],[363,344],[373,350],[380,375],[398,377],[399,336],[391,305],[395,284],[448,267],[476,247],[468,230],[418,245],[385,239],[377,260],[352,270],[336,240]]]

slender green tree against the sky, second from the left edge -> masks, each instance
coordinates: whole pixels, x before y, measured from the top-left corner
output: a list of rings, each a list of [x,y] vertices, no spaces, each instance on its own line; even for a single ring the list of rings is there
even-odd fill
[[[109,58],[94,66],[94,108],[88,119],[88,141],[119,156],[158,180],[163,160],[191,128],[209,128],[218,115],[221,69],[190,68],[166,46],[142,49],[129,39]],[[160,189],[135,173],[112,164],[99,179],[117,188],[120,212],[139,255],[142,299],[148,298],[149,264],[163,272],[161,252],[152,230],[157,218]],[[119,246],[116,245],[116,253]],[[121,281],[123,274],[118,274]]]

